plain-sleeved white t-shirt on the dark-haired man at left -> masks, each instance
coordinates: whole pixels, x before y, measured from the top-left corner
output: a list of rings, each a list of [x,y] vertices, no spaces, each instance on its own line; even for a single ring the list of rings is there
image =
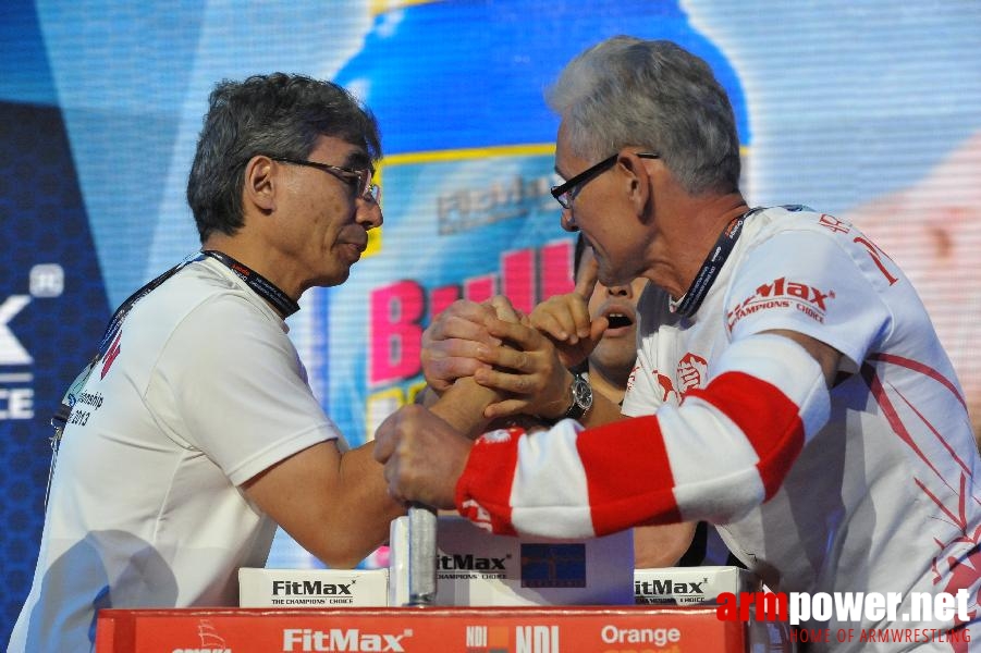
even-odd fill
[[[340,438],[286,332],[211,259],[133,307],[65,428],[11,651],[87,651],[98,608],[237,604],[275,530],[240,486]]]

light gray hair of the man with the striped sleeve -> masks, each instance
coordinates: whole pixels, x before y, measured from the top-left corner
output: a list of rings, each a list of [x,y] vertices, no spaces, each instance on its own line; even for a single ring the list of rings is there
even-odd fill
[[[573,152],[600,160],[635,146],[661,155],[692,195],[739,185],[732,104],[709,64],[665,40],[616,36],[573,59],[545,97]]]

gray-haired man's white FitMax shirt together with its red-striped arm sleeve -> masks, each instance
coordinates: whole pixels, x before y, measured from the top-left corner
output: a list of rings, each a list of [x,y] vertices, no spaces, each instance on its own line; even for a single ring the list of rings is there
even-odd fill
[[[457,484],[461,512],[554,537],[704,519],[775,591],[964,588],[977,612],[981,463],[916,291],[831,215],[776,207],[743,229],[695,316],[648,286],[623,404],[635,419],[485,435]],[[773,330],[843,354],[830,392],[813,358]],[[910,627],[922,626],[952,624]]]

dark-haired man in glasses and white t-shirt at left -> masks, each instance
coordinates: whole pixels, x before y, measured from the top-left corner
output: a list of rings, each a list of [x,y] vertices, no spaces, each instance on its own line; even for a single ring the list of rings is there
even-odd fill
[[[380,156],[373,118],[334,84],[216,87],[187,185],[201,252],[120,307],[70,391],[11,651],[89,650],[103,607],[235,605],[277,525],[331,566],[384,542],[403,504],[372,444],[347,451],[284,321],[382,223]]]

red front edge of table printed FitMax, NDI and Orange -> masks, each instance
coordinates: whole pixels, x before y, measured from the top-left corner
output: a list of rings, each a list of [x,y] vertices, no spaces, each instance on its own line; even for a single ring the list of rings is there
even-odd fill
[[[741,653],[748,632],[785,650],[780,630],[747,630],[714,608],[108,609],[96,653]]]

